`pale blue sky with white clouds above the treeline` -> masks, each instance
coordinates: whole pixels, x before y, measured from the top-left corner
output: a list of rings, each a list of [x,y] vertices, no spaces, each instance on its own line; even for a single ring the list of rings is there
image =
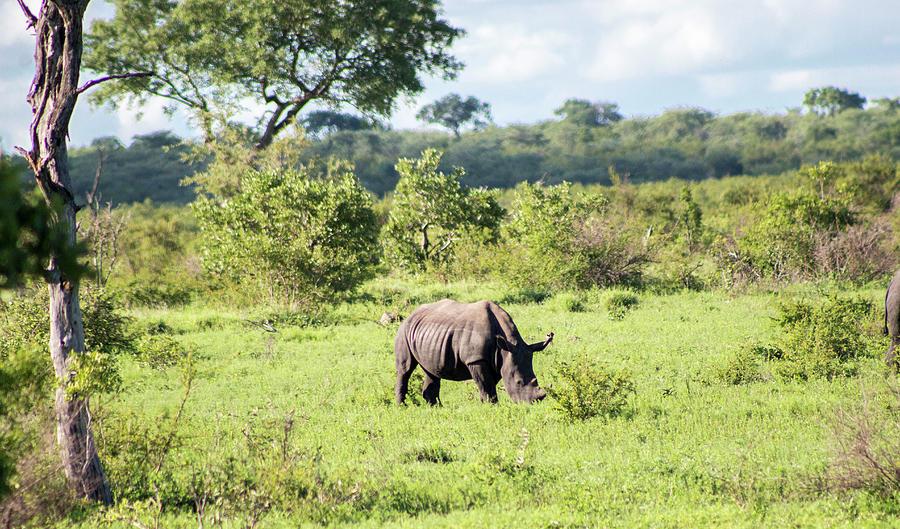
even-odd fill
[[[37,12],[39,0],[25,0]],[[495,123],[556,119],[570,98],[612,102],[626,117],[702,107],[719,115],[784,113],[803,94],[837,86],[869,100],[900,96],[898,0],[444,0],[466,30],[451,53],[456,80],[426,78],[398,101],[395,129],[426,128],[416,111],[449,93],[488,102]],[[93,0],[86,18],[109,17]],[[0,0],[0,146],[24,145],[34,37],[16,0]],[[82,73],[82,82],[97,77]],[[162,103],[110,111],[79,101],[70,143],[173,130],[194,137]]]

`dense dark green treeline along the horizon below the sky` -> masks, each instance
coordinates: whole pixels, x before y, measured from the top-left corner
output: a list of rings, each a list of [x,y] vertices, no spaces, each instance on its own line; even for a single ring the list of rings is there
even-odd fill
[[[304,157],[335,156],[355,165],[363,186],[377,195],[394,189],[399,158],[429,147],[444,152],[441,170],[466,169],[470,186],[511,188],[518,182],[611,183],[609,168],[634,183],[726,175],[779,174],[821,160],[854,161],[867,154],[900,158],[900,111],[891,105],[846,109],[831,115],[794,110],[716,116],[681,108],[653,117],[584,124],[573,120],[490,127],[452,134],[351,127],[322,131]],[[113,203],[188,203],[193,191],[178,185],[198,170],[183,161],[188,146],[168,132],[135,137],[123,147],[100,138],[71,153],[74,187],[91,189],[98,150],[105,159],[100,189]]]

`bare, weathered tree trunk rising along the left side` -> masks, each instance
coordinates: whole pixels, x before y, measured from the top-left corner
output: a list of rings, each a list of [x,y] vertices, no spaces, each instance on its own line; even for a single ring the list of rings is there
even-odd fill
[[[62,208],[57,222],[75,242],[77,207],[69,181],[66,136],[78,95],[81,69],[82,21],[89,0],[42,0],[35,17],[19,0],[36,32],[35,75],[28,93],[34,114],[30,151],[19,149],[31,165],[38,185],[49,202]],[[86,87],[85,87],[86,88]],[[84,353],[84,325],[78,302],[77,278],[60,269],[59,259],[50,259],[47,281],[50,289],[50,357],[60,387],[56,391],[57,439],[63,467],[70,483],[83,497],[112,503],[109,482],[91,432],[87,399],[67,400],[64,387],[71,378],[73,355]]]

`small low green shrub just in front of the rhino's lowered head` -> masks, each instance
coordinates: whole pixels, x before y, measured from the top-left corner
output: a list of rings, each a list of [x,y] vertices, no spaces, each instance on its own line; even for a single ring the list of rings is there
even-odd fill
[[[570,422],[584,421],[602,415],[619,415],[634,392],[631,376],[626,371],[610,371],[582,358],[560,362],[556,366],[556,383],[546,389],[554,407]]]

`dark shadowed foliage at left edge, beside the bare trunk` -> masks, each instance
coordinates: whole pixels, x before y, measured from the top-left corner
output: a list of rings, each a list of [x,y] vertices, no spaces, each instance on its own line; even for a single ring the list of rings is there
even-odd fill
[[[70,277],[84,272],[77,258],[82,249],[73,247],[64,226],[55,222],[58,211],[38,193],[27,193],[19,183],[19,172],[0,156],[0,290],[40,277],[51,255]]]

